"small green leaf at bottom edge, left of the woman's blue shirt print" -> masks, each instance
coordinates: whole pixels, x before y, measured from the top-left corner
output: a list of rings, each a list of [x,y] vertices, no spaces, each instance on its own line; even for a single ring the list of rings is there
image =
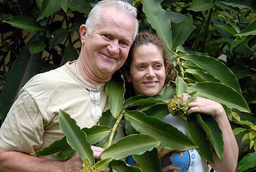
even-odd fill
[[[123,161],[112,161],[110,163],[110,167],[112,167],[115,171],[120,172],[142,172],[140,168],[130,166]]]

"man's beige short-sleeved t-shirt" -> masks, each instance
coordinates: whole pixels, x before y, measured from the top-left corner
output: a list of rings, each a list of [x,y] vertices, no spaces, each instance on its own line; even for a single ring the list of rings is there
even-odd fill
[[[86,82],[72,62],[34,76],[20,90],[2,124],[0,147],[34,153],[60,140],[64,136],[58,123],[60,109],[70,114],[80,128],[96,125],[98,121],[91,116],[94,102],[86,88],[101,93],[102,111],[109,108],[105,84],[95,87]]]

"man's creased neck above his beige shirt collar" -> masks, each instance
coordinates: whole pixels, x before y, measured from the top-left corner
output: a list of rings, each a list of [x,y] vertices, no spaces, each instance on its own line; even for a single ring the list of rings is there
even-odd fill
[[[76,71],[78,75],[80,75],[84,80],[92,84],[93,86],[97,86],[101,83],[107,83],[111,76],[102,74],[102,76],[97,76],[87,67],[86,63],[83,63],[80,58],[78,58],[75,62]]]

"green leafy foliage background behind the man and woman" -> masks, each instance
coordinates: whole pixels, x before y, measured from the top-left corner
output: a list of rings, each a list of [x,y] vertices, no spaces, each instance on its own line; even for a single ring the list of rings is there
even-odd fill
[[[255,170],[252,163],[255,161],[251,159],[256,159],[256,2],[129,2],[138,8],[140,30],[155,32],[166,42],[187,91],[198,91],[199,95],[226,107],[239,143],[238,170]],[[95,3],[93,0],[0,1],[1,122],[19,89],[31,77],[78,58],[78,29]],[[173,96],[168,91],[165,95]],[[125,103],[123,108],[128,107]],[[112,115],[116,118],[119,114]],[[163,116],[158,115],[158,118]],[[119,161],[111,163],[122,166]]]

